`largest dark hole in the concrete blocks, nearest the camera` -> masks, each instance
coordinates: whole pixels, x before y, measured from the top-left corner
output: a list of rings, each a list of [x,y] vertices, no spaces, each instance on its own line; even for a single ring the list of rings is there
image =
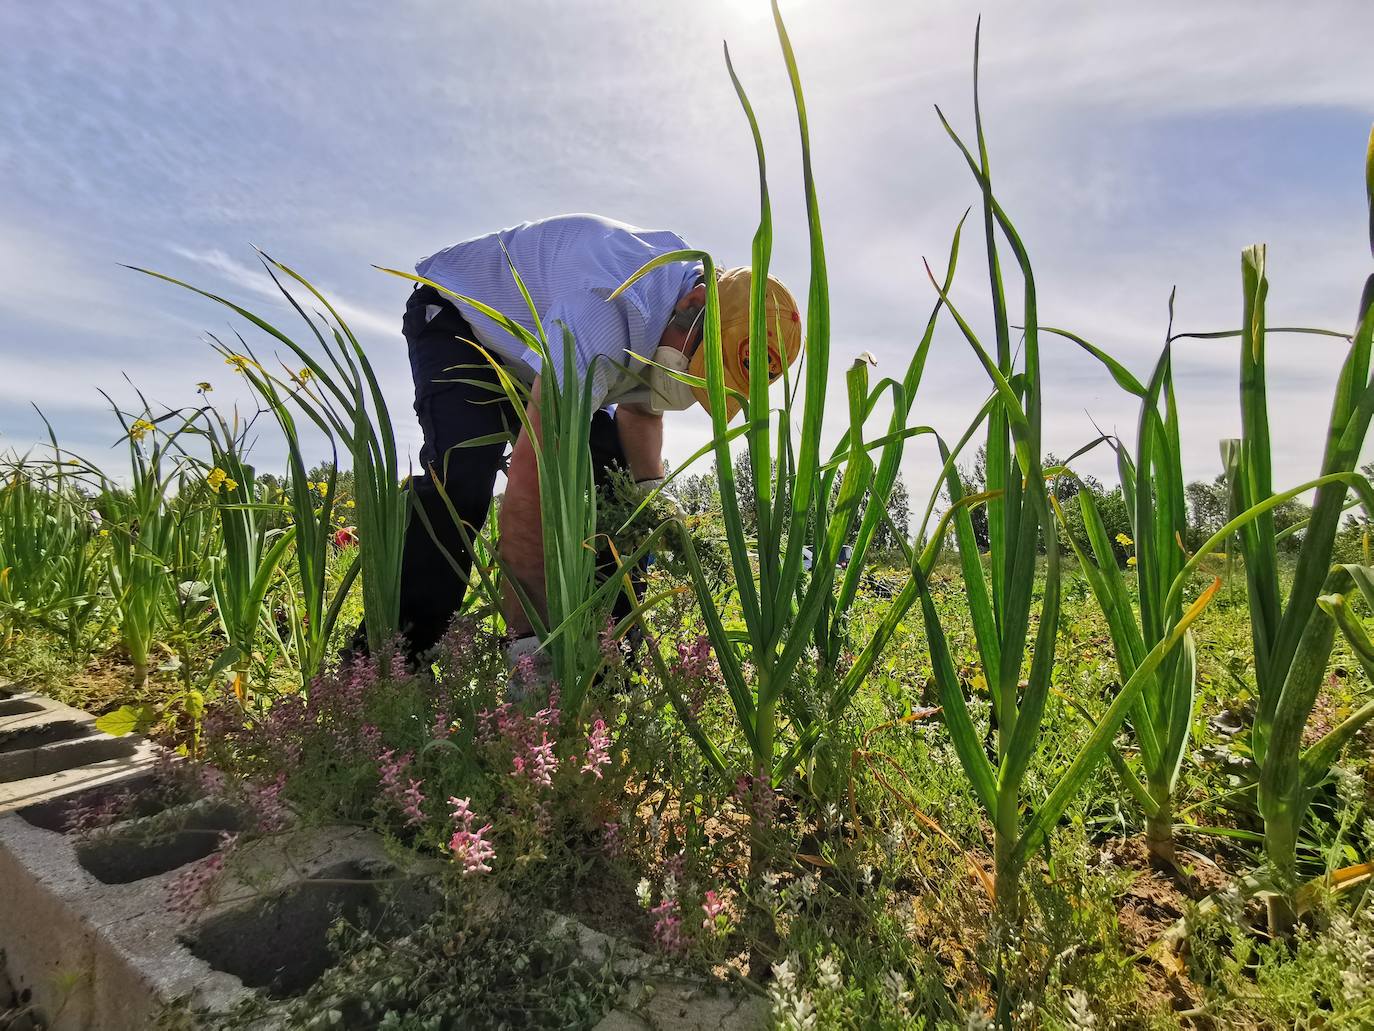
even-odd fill
[[[415,877],[394,867],[346,862],[330,866],[286,892],[212,917],[183,936],[191,953],[272,998],[300,995],[334,965],[327,932],[346,920],[396,939],[438,906]]]

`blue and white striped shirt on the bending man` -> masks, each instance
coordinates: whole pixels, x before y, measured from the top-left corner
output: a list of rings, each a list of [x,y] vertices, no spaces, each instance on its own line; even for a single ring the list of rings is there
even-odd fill
[[[683,250],[687,245],[682,238],[599,214],[559,214],[455,243],[415,265],[418,275],[482,301],[537,335],[539,327],[502,253],[503,243],[543,322],[559,385],[563,386],[562,323],[573,334],[578,377],[592,377],[594,407],[647,396],[640,382],[647,367],[625,352],[654,356],[673,308],[692,289],[701,264],[683,261],[655,268],[614,301],[606,298],[644,263]],[[495,319],[469,304],[453,302],[477,341],[500,356],[515,377],[532,384],[540,373],[539,355]],[[627,366],[635,375],[625,374]]]

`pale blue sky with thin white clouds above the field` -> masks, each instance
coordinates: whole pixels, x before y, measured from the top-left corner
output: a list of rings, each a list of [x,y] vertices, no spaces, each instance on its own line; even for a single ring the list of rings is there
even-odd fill
[[[1349,331],[1367,245],[1374,4],[786,0],[807,93],[831,301],[829,437],[842,374],[871,352],[899,377],[934,301],[974,180],[934,104],[973,129],[973,41],[993,184],[1036,269],[1043,324],[1145,377],[1171,287],[1176,329],[1239,324],[1239,254],[1268,243],[1270,324]],[[469,236],[563,212],[669,228],[746,264],[758,219],[747,124],[768,150],[774,271],[804,298],[809,249],[791,93],[764,0],[12,0],[0,5],[0,451],[45,437],[117,466],[110,401],[251,407],[205,334],[235,327],[143,265],[291,326],[254,247],[337,302],[418,454],[400,318],[409,268]],[[980,331],[989,301],[970,219],[952,293]],[[1006,258],[1010,263],[1010,256]],[[267,341],[243,329],[250,342]],[[991,338],[991,334],[989,334]],[[1344,345],[1270,342],[1275,484],[1318,472]],[[1136,411],[1090,357],[1041,344],[1046,447],[1134,437]],[[1180,341],[1189,478],[1238,433],[1238,344]],[[989,384],[944,319],[915,422],[958,437]],[[680,462],[709,439],[669,414]],[[260,467],[282,463],[273,433]],[[320,458],[324,456],[320,445]],[[403,459],[404,461],[404,459]],[[1081,472],[1113,480],[1103,450]],[[903,472],[914,503],[937,462]]]

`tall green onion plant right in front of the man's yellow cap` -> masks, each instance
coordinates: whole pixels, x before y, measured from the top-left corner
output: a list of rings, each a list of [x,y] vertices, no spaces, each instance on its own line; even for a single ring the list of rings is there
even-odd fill
[[[896,478],[901,441],[927,428],[907,429],[911,399],[921,379],[930,329],[916,349],[903,382],[883,379],[870,385],[868,363],[856,360],[845,378],[848,419],[838,447],[829,456],[820,440],[826,426],[826,393],[830,377],[830,293],[824,241],[811,164],[811,136],[796,55],[776,3],[774,21],[783,62],[793,89],[801,136],[802,184],[811,246],[811,286],[807,300],[804,381],[796,388],[783,373],[782,407],[769,407],[768,331],[764,307],[768,265],[772,253],[772,216],[768,195],[763,137],[749,98],[725,54],[727,69],[749,122],[758,159],[760,221],[752,250],[753,291],[749,331],[749,396],[735,393],[743,425],[725,423],[727,389],[721,356],[720,311],[714,261],[703,250],[664,254],[646,264],[627,283],[671,261],[701,261],[705,268],[706,312],[703,342],[705,379],[679,377],[705,388],[710,399],[712,451],[720,478],[720,503],[734,569],[742,631],[727,627],[725,599],[717,595],[702,569],[690,537],[684,557],[712,646],[720,661],[741,737],[747,753],[727,756],[694,719],[680,698],[675,705],[706,759],[721,773],[743,773],[778,784],[808,757],[824,730],[842,715],[859,685],[877,661],[883,645],[896,632],[901,614],[914,603],[912,591],[899,595],[878,623],[857,658],[848,669],[835,661],[846,641],[844,624],[853,601],[857,577],[872,540],[875,520],[886,509],[886,492]],[[621,289],[625,289],[622,286]],[[772,327],[778,329],[778,327]],[[864,425],[878,399],[890,392],[893,414],[888,432],[864,439]],[[750,540],[736,489],[736,472],[730,443],[745,436],[745,476],[754,498],[756,537]],[[875,463],[872,452],[879,454]],[[679,470],[680,472],[680,470]],[[838,481],[838,491],[833,485]],[[868,509],[863,500],[868,496]],[[849,570],[835,591],[840,551],[857,528]],[[813,555],[804,568],[804,553]],[[926,558],[934,553],[930,551]],[[822,663],[812,649],[822,645]],[[742,759],[742,762],[741,762]]]

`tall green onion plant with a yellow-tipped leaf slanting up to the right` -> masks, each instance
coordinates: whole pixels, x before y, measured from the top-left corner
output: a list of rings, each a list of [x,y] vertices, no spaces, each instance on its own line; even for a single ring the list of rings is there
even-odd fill
[[[937,109],[938,111],[938,109]],[[984,503],[988,509],[989,554],[985,576],[963,485],[947,462],[945,481],[955,503],[955,533],[959,565],[974,630],[978,664],[992,698],[995,727],[992,757],[976,730],[965,700],[949,643],[936,610],[934,592],[919,565],[912,572],[921,591],[926,636],[934,680],[945,724],[974,795],[988,814],[993,834],[993,881],[1003,922],[1020,911],[1020,877],[1030,858],[1047,841],[1092,770],[1106,756],[1112,740],[1139,701],[1142,691],[1183,639],[1189,624],[1216,591],[1213,584],[1179,620],[1139,656],[1135,669],[1117,697],[1098,719],[1088,740],[1068,768],[1052,775],[1048,793],[1025,797],[1024,786],[1048,701],[1059,627],[1061,557],[1054,509],[1046,487],[1040,458],[1043,397],[1040,386],[1040,345],[1036,285],[1025,245],[992,191],[988,150],[982,133],[977,91],[977,48],[974,51],[974,114],[977,154],[970,153],[941,114],[949,137],[959,147],[982,195],[984,235],[992,296],[993,351],[980,341],[969,322],[949,302],[947,290],[936,283],[951,318],[971,345],[996,390],[996,404],[988,417],[987,478]],[[1010,246],[1022,279],[1024,311],[1020,362],[1014,360],[1011,322],[999,253],[999,236]],[[932,275],[932,282],[934,276]],[[1036,554],[1043,542],[1044,580],[1039,624],[1032,625],[1037,592]],[[1029,669],[1025,671],[1029,661]],[[1022,683],[1022,674],[1026,679]]]

